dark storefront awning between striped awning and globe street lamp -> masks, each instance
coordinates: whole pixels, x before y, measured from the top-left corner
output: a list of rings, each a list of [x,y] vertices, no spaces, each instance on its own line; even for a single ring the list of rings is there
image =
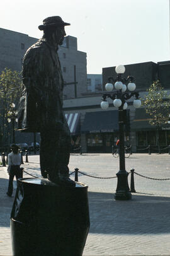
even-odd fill
[[[118,131],[117,110],[86,113],[81,132],[97,133],[114,131]]]

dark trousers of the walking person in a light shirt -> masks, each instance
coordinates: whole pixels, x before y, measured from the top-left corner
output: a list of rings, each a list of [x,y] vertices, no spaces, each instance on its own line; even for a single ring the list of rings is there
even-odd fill
[[[8,194],[12,195],[13,194],[13,180],[14,176],[16,177],[16,180],[18,178],[23,177],[23,173],[20,170],[20,165],[11,165],[11,170],[9,172],[9,183],[8,183]]]

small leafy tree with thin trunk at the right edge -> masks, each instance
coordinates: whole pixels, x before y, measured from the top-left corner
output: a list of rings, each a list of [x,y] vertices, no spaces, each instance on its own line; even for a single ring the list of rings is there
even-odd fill
[[[146,113],[150,115],[150,125],[154,125],[156,127],[157,144],[160,152],[159,129],[162,124],[167,123],[169,117],[169,95],[167,95],[167,91],[162,88],[159,79],[154,81],[147,91],[148,94],[142,101],[142,105],[145,106]]]

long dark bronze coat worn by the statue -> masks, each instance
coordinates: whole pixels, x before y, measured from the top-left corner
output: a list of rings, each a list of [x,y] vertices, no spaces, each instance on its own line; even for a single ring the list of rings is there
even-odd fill
[[[18,129],[41,132],[47,127],[69,134],[62,112],[64,80],[55,47],[42,38],[23,59],[23,92],[18,108]]]

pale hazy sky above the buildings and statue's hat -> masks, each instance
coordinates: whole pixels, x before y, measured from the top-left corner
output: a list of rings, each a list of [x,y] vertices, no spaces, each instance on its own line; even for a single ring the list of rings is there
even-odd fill
[[[65,32],[87,53],[88,74],[170,60],[169,0],[6,0],[0,27],[40,38],[38,26],[55,15],[71,23]]]

